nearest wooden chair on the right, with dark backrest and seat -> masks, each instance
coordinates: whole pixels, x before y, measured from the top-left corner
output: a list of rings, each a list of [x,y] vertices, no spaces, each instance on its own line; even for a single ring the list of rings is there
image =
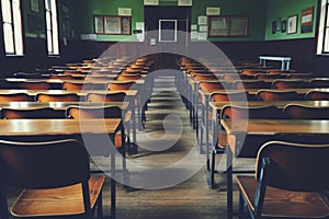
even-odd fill
[[[317,192],[329,188],[329,145],[284,141],[264,143],[256,176],[237,176],[239,218],[328,218],[328,204]],[[249,218],[249,217],[248,217]]]

